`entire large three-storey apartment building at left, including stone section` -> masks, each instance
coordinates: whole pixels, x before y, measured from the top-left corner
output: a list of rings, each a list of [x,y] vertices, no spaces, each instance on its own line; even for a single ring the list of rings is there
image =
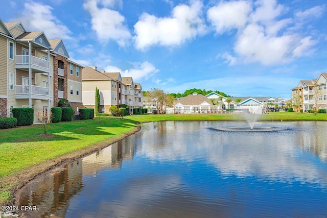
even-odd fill
[[[49,119],[48,111],[60,98],[77,114],[83,67],[68,58],[61,39],[48,40],[43,32],[26,31],[21,22],[0,19],[0,117],[9,117],[13,108],[30,107],[38,123],[39,113]]]

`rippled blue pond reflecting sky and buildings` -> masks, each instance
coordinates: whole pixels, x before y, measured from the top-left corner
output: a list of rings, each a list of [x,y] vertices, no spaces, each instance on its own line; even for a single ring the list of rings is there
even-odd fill
[[[27,217],[327,217],[327,122],[157,122],[25,186]]]

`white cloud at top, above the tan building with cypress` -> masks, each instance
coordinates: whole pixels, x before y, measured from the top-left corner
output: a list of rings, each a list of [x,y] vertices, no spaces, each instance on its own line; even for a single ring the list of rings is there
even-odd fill
[[[111,1],[108,1],[105,5],[108,5],[109,2]],[[120,46],[128,44],[131,34],[123,25],[125,21],[123,15],[108,8],[99,8],[96,0],[87,0],[83,7],[90,13],[92,29],[97,32],[100,41],[108,42],[109,40],[114,40]]]

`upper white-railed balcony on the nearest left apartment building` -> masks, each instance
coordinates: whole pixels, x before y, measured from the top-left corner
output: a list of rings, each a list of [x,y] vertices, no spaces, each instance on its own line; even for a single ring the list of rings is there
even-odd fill
[[[24,69],[29,68],[29,55],[16,55],[16,63],[15,68]],[[50,66],[49,61],[43,60],[41,58],[37,58],[35,56],[31,56],[31,68],[36,71],[49,72]]]

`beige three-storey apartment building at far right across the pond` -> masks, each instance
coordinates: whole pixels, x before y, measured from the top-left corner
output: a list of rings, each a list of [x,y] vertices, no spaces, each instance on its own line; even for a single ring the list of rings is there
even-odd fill
[[[300,80],[292,89],[292,107],[295,111],[327,109],[327,73],[312,80]]]

